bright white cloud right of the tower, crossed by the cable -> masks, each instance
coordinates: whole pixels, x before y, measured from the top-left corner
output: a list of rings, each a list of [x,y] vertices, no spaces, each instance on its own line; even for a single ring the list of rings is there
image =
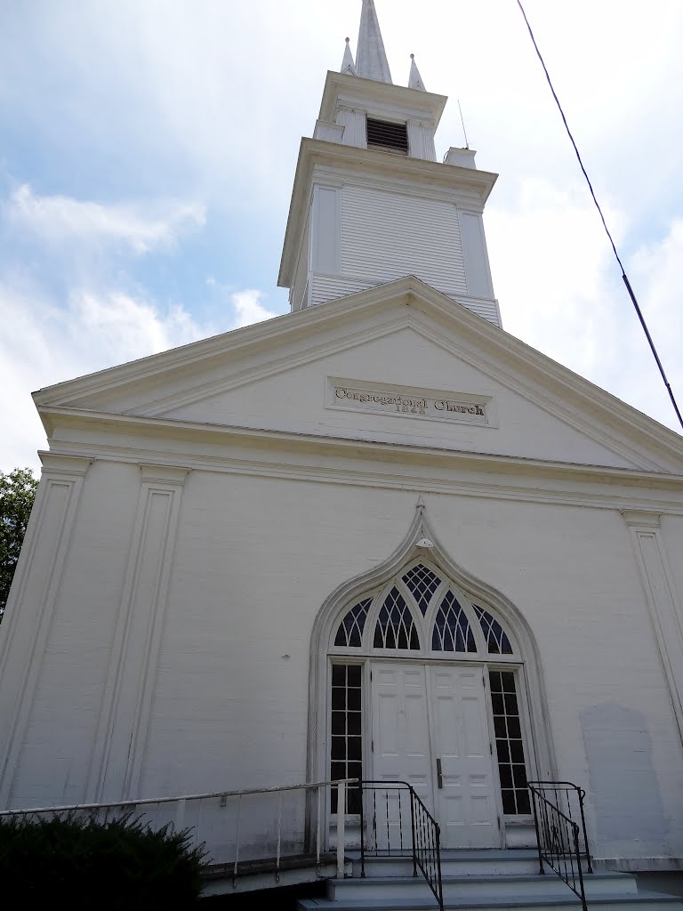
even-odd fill
[[[507,332],[645,414],[679,430],[647,340],[586,192],[525,179],[509,208],[488,214],[494,290]],[[625,215],[603,202],[618,245]],[[679,263],[683,221],[627,262],[668,379],[683,401]]]

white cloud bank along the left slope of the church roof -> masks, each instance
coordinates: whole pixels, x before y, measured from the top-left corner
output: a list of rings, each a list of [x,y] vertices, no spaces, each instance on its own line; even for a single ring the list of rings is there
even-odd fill
[[[275,316],[255,290],[232,292],[239,328]],[[228,314],[229,315],[229,314]],[[118,290],[80,288],[61,308],[34,281],[0,281],[0,333],[3,394],[0,426],[7,429],[0,450],[0,470],[38,466],[36,450],[45,447],[30,393],[117,363],[146,357],[216,333],[180,304],[163,308]]]

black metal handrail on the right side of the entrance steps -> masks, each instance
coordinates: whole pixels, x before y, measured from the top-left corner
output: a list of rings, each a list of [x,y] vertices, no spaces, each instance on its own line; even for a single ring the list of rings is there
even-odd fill
[[[536,844],[538,845],[538,872],[545,874],[547,864],[562,879],[572,892],[581,900],[583,911],[587,911],[586,888],[582,858],[588,857],[589,872],[593,872],[588,855],[586,839],[586,821],[583,819],[583,796],[585,792],[570,782],[528,782],[534,807]],[[584,825],[584,842],[586,853],[581,851],[579,826],[575,820],[559,808],[560,794],[574,789],[579,794],[581,816]],[[553,804],[546,793],[555,793]],[[573,793],[573,791],[572,791]],[[569,800],[567,797],[567,804]]]

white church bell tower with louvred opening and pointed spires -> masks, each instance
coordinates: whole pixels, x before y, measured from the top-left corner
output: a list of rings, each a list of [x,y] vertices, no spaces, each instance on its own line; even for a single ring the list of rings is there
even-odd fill
[[[292,311],[415,275],[501,325],[482,221],[497,175],[469,148],[436,160],[446,101],[413,55],[408,87],[393,85],[374,0],[362,0],[355,61],[347,38],[301,140],[278,279]]]

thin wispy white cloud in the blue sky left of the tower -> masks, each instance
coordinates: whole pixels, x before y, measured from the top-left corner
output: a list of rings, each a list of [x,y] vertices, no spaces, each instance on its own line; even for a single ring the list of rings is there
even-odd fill
[[[120,244],[136,254],[170,247],[178,235],[202,228],[206,209],[197,202],[117,203],[36,196],[24,184],[5,203],[5,220],[51,244]]]

